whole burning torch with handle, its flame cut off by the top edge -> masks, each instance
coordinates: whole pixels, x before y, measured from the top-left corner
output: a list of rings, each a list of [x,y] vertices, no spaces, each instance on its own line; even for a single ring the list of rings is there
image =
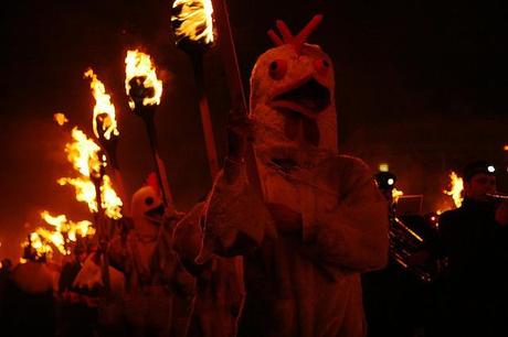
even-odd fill
[[[219,163],[210,108],[204,89],[203,70],[203,55],[212,47],[214,42],[212,13],[211,0],[176,0],[172,7],[171,25],[174,31],[177,46],[189,55],[194,70],[201,124],[203,127],[210,174],[213,181],[219,172]]]

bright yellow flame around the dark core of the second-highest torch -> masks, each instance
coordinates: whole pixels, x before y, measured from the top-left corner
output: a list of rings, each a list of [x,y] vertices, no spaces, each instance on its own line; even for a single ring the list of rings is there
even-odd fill
[[[125,89],[129,96],[130,108],[135,108],[135,101],[130,97],[133,79],[138,79],[140,85],[149,93],[148,96],[142,98],[144,106],[159,105],[162,95],[162,81],[157,78],[156,68],[151,63],[150,55],[141,53],[138,50],[128,51],[125,65]]]

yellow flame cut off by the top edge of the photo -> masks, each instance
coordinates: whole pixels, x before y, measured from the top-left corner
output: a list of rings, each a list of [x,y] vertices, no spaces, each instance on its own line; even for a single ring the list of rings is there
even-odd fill
[[[213,7],[211,0],[176,0],[171,17],[177,42],[184,37],[213,43]]]

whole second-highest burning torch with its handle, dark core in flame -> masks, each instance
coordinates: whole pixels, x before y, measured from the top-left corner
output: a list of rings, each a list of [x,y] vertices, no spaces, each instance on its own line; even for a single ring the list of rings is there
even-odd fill
[[[166,206],[172,205],[172,196],[167,181],[166,170],[159,156],[155,112],[162,95],[162,81],[157,78],[156,69],[149,55],[139,51],[128,51],[125,58],[125,89],[129,96],[129,107],[139,116],[147,128],[154,156],[157,180],[161,186],[162,200]]]

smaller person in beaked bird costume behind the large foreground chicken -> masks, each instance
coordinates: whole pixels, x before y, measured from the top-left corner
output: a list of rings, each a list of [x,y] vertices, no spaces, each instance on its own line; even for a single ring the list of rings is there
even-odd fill
[[[131,200],[134,229],[126,239],[115,238],[110,246],[112,264],[127,280],[125,312],[130,336],[186,334],[189,313],[176,312],[174,305],[179,303],[177,296],[192,292],[193,280],[171,249],[177,218],[165,221],[163,214],[157,187],[141,187]]]

